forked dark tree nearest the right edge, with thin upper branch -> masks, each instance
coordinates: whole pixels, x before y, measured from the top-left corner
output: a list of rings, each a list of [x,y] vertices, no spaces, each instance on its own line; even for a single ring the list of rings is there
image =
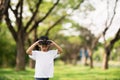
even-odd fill
[[[109,42],[106,42],[106,40],[105,40],[105,34],[106,34],[107,30],[110,28],[110,26],[112,25],[115,14],[116,14],[117,3],[118,3],[118,0],[115,0],[115,6],[114,6],[114,9],[113,9],[113,15],[112,15],[109,23],[108,23],[108,20],[109,20],[109,16],[108,16],[108,19],[106,20],[106,24],[105,24],[106,28],[103,31],[104,49],[105,49],[105,55],[104,55],[104,60],[103,60],[103,69],[108,69],[109,68],[108,61],[109,61],[111,51],[113,49],[114,44],[120,39],[120,28],[119,28],[117,33],[115,34],[114,38],[112,38]],[[109,1],[108,1],[108,5],[109,5]]]

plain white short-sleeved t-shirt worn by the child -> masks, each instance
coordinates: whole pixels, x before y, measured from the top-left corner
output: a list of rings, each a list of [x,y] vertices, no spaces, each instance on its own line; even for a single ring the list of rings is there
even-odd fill
[[[35,78],[50,78],[53,77],[54,59],[58,56],[58,50],[32,51],[30,58],[35,60]]]

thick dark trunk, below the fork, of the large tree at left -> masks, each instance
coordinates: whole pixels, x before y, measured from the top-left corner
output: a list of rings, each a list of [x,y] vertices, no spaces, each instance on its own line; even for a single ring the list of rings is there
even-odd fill
[[[17,41],[16,70],[25,70],[25,49],[23,38],[18,38]]]

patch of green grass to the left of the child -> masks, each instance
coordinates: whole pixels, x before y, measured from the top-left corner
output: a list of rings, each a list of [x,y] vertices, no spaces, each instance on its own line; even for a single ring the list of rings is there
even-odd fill
[[[0,69],[0,80],[33,80],[34,70],[15,71],[14,69]]]

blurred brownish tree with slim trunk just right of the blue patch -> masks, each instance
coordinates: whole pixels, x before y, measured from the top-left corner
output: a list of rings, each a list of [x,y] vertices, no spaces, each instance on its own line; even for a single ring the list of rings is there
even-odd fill
[[[79,30],[82,33],[80,37],[82,37],[84,40],[82,45],[84,45],[84,47],[86,47],[88,50],[90,68],[93,68],[93,51],[98,43],[99,37],[95,37],[90,30],[84,27],[80,27]]]

